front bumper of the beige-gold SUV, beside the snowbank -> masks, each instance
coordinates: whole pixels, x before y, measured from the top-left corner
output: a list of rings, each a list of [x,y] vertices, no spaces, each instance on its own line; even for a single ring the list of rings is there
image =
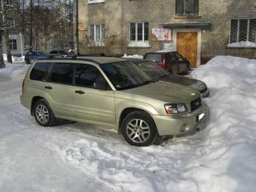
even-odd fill
[[[200,114],[204,114],[204,116],[198,120]],[[209,107],[203,103],[201,108],[192,114],[153,115],[153,119],[160,136],[183,136],[195,133],[197,128],[205,129],[209,115]]]

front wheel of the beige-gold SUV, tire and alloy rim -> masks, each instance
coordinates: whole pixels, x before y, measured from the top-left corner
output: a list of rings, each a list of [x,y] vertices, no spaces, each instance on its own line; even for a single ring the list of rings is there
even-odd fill
[[[133,111],[121,123],[121,132],[127,143],[134,146],[148,146],[157,139],[157,126],[145,111]]]

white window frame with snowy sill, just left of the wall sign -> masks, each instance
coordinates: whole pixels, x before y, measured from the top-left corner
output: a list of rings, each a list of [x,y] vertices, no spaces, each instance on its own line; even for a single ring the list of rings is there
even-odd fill
[[[130,40],[128,47],[151,47],[149,44],[149,41],[145,41],[145,23],[148,23],[148,22],[133,22],[133,23],[136,23],[136,27],[135,27],[136,40],[135,41]],[[139,23],[142,23],[142,41],[138,41],[138,24]],[[131,25],[130,25],[130,27],[131,27]],[[131,38],[130,27],[129,27],[129,39]],[[149,26],[148,26],[148,28],[149,28]],[[148,29],[148,31],[149,31],[149,29]],[[148,38],[149,38],[149,34],[148,34]]]

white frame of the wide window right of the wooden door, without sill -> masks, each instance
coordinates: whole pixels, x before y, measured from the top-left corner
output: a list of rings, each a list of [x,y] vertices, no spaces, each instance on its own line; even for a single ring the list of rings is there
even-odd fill
[[[239,42],[241,42],[241,41],[239,41],[240,20],[247,20],[246,41],[249,41],[250,23],[251,23],[251,20],[256,20],[256,18],[230,18],[228,44],[232,44],[231,43],[231,21],[232,20],[237,20],[236,42],[232,42],[232,43],[239,43]],[[249,42],[252,42],[252,41],[249,41]],[[256,38],[255,38],[255,42],[252,42],[252,43],[256,43]]]

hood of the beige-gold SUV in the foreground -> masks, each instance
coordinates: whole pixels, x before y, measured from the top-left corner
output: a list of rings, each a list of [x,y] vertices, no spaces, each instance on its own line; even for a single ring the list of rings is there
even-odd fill
[[[123,90],[123,92],[174,103],[191,102],[200,97],[200,93],[197,90],[166,81],[157,81],[130,90]]]

